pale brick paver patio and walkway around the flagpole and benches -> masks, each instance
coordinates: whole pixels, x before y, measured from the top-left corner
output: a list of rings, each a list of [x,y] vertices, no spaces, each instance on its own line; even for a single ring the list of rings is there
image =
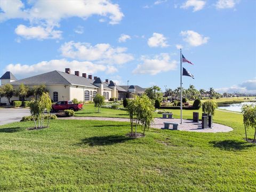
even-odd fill
[[[118,122],[130,122],[129,118],[112,118],[112,117],[64,117],[61,119],[77,119],[77,120],[98,120],[98,121],[118,121]],[[163,118],[155,118],[154,123],[151,127],[161,129],[164,127],[164,122],[170,123],[180,123],[180,119],[163,119]],[[172,125],[170,125],[170,129],[172,129]],[[218,123],[213,123],[211,128],[202,129],[201,122],[196,123],[192,120],[183,119],[183,123],[179,124],[178,130],[180,131],[194,131],[194,132],[204,132],[204,133],[218,133],[218,132],[229,132],[233,131],[233,129],[226,125],[221,125]]]

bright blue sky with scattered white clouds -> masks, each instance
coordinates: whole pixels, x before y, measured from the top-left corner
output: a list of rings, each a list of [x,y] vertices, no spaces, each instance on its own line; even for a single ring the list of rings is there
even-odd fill
[[[70,68],[119,85],[256,93],[254,0],[0,0],[0,76]]]

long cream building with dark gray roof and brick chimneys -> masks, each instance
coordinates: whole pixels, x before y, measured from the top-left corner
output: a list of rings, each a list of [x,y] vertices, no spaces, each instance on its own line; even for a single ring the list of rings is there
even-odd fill
[[[73,75],[69,68],[66,68],[65,72],[54,70],[20,80],[17,80],[10,71],[7,71],[0,79],[1,85],[10,83],[14,87],[18,87],[21,84],[29,87],[44,84],[46,89],[49,90],[49,95],[53,102],[73,100],[74,98],[78,101],[93,101],[93,98],[97,93],[103,95],[106,98],[106,101],[110,98],[118,98],[119,100],[122,100],[129,96],[127,90],[124,89],[124,86],[118,86],[113,81],[108,81],[108,79],[106,79],[105,82],[102,82],[99,77],[95,76],[92,79],[92,75],[89,75],[87,78],[87,74],[85,73],[80,76],[79,71],[75,71],[75,74]],[[134,87],[136,88],[137,86]],[[142,89],[143,88],[141,88],[141,90]],[[129,92],[132,94],[135,93],[134,91],[135,89],[129,89]],[[140,94],[141,93],[142,92],[140,92]],[[28,99],[31,98],[32,97]],[[19,100],[19,98],[13,97],[11,100]],[[1,102],[7,103],[8,101],[6,98],[1,98]]]

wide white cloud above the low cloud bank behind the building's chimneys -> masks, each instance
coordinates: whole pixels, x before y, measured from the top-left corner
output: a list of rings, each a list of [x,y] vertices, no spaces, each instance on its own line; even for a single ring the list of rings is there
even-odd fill
[[[108,65],[122,65],[133,60],[133,56],[126,52],[126,47],[113,47],[110,44],[96,44],[92,46],[90,43],[67,42],[60,47],[63,57],[95,61],[97,63],[107,63]]]

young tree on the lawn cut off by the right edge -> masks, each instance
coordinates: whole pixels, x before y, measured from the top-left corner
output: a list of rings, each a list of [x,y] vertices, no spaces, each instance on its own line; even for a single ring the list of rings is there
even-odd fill
[[[253,105],[243,105],[242,107],[244,129],[245,129],[245,138],[247,140],[247,127],[252,127],[255,129],[253,141],[255,142],[256,137],[256,106]]]

